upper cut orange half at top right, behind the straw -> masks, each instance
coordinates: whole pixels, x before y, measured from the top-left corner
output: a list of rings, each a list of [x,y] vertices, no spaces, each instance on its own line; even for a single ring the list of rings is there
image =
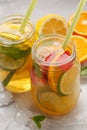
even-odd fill
[[[69,25],[72,23],[74,15],[72,15],[69,18]],[[75,27],[75,33],[82,35],[82,36],[87,36],[87,11],[84,11],[81,13],[81,16],[77,22],[77,25]]]

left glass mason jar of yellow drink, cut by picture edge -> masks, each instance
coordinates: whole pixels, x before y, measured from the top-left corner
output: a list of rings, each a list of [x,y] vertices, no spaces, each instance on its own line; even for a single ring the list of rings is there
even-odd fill
[[[0,80],[12,92],[30,90],[31,48],[36,40],[35,27],[28,20],[24,33],[19,32],[21,15],[0,20]]]

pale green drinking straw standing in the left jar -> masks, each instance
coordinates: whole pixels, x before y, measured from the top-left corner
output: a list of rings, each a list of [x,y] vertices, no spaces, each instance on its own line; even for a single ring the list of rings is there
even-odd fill
[[[30,6],[29,6],[29,8],[27,10],[27,13],[26,13],[26,15],[24,17],[24,20],[22,21],[22,24],[20,26],[19,32],[24,33],[25,26],[27,24],[27,21],[28,21],[29,17],[31,16],[31,14],[32,14],[32,12],[34,10],[34,7],[35,7],[36,3],[37,3],[37,0],[32,0],[31,1]]]

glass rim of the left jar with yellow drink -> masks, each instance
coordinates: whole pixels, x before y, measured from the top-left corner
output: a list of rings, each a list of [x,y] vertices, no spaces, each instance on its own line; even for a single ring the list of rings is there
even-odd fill
[[[21,21],[23,20],[23,18],[24,18],[24,15],[20,15],[20,14],[8,15],[8,16],[3,17],[2,19],[0,19],[0,25],[4,24],[4,23],[6,23],[6,22],[9,22],[9,21],[11,21],[11,20],[14,20],[14,22],[15,22],[15,20],[19,20],[20,23],[21,23]],[[33,36],[33,34],[35,33],[35,26],[34,26],[34,24],[31,22],[30,19],[28,20],[26,26],[30,26],[30,27],[31,27],[31,31],[30,31],[29,33],[27,32],[26,35],[25,35],[23,38],[21,38],[21,39],[18,39],[18,40],[15,40],[15,41],[12,40],[11,42],[12,42],[14,45],[20,44],[21,42],[24,42],[24,41],[25,41],[25,38],[26,38],[27,40],[30,39],[30,38]],[[2,45],[2,44],[1,44],[1,45]],[[4,46],[4,45],[9,46],[9,45],[7,45],[7,44],[3,44],[3,46]]]

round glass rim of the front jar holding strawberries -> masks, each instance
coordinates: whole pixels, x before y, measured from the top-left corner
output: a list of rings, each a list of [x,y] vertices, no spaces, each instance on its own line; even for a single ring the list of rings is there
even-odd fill
[[[72,45],[72,53],[71,56],[68,59],[65,59],[64,61],[59,61],[59,62],[46,62],[41,60],[35,53],[35,48],[38,45],[38,43],[41,40],[46,40],[46,39],[50,39],[50,38],[60,38],[61,40],[63,40],[65,38],[65,36],[63,35],[57,35],[57,34],[48,34],[48,35],[44,35],[41,36],[32,46],[32,59],[34,59],[36,61],[36,63],[38,62],[40,65],[45,65],[45,66],[61,66],[64,64],[67,64],[68,62],[71,62],[74,60],[74,58],[76,57],[76,50],[75,50],[75,44],[73,43],[74,41],[70,40],[70,43]]]

